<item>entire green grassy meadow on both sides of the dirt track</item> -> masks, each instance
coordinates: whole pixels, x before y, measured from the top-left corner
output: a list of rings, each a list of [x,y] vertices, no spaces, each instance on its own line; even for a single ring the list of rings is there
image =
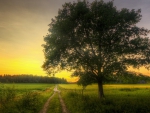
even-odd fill
[[[38,113],[53,94],[54,84],[0,84],[0,113]],[[98,98],[97,84],[83,92],[77,84],[59,84],[69,113],[150,113],[150,84],[106,84],[105,98]],[[61,113],[57,94],[47,113]]]

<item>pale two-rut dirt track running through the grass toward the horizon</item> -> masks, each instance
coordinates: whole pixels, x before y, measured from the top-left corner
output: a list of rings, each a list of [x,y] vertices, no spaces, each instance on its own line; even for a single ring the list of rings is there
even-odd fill
[[[62,113],[69,113],[67,108],[66,108],[66,105],[61,97],[61,94],[60,94],[60,91],[57,89],[57,85],[55,86],[54,88],[54,93],[52,96],[49,97],[49,99],[47,100],[47,102],[45,103],[43,109],[39,112],[39,113],[47,113],[47,110],[48,110],[48,106],[49,106],[49,103],[50,103],[50,100],[53,98],[53,96],[56,94],[56,92],[58,93],[59,95],[59,100],[60,100],[60,104],[61,104],[61,107],[62,107]]]

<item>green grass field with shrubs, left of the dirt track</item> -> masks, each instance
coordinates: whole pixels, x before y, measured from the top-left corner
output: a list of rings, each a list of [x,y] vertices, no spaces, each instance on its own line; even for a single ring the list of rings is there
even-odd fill
[[[0,113],[38,113],[53,94],[53,84],[0,84]]]

